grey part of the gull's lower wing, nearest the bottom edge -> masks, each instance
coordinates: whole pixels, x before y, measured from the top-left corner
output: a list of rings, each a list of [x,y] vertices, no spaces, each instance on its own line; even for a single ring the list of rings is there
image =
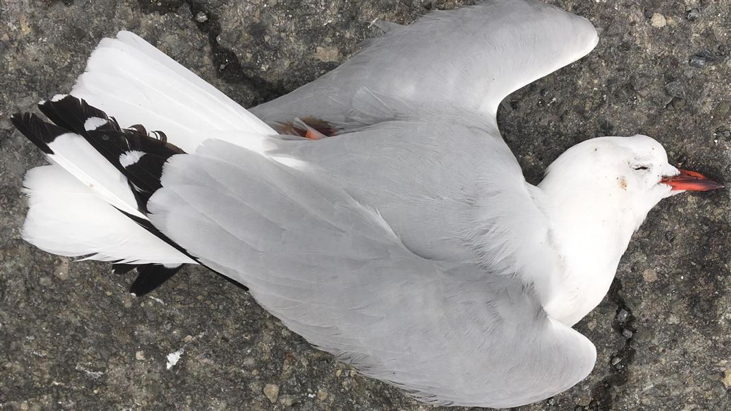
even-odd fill
[[[574,385],[594,346],[531,287],[415,256],[378,212],[226,142],[170,158],[151,220],[317,347],[427,402],[512,407]]]

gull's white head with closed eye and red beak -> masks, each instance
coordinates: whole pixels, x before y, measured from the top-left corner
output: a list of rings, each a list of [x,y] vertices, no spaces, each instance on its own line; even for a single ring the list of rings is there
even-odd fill
[[[539,187],[572,207],[591,207],[597,217],[624,215],[633,231],[660,200],[685,191],[723,185],[667,162],[662,145],[651,137],[597,137],[569,148],[548,167]],[[575,210],[578,211],[578,210]]]

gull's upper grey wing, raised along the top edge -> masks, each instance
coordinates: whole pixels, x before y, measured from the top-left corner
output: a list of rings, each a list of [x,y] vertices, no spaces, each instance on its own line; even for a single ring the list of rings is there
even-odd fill
[[[505,96],[596,42],[588,20],[549,4],[485,1],[394,28],[333,72],[251,112],[269,123],[378,123],[447,107],[494,116]],[[372,110],[374,101],[388,110]]]

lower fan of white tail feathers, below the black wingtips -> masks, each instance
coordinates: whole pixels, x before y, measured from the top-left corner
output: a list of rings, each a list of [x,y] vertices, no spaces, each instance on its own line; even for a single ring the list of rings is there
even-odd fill
[[[59,256],[123,263],[196,264],[115,210],[56,164],[31,169],[23,239]]]

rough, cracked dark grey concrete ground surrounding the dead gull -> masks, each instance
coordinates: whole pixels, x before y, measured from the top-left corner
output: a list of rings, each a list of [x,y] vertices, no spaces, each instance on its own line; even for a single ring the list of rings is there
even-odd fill
[[[514,93],[504,136],[536,183],[588,137],[643,133],[731,181],[731,0],[552,0],[590,19],[588,58]],[[135,31],[245,107],[336,67],[377,33],[456,0],[0,0],[0,410],[431,410],[309,347],[248,293],[185,269],[143,298],[107,264],[20,239],[41,153],[9,115],[69,91],[99,39]],[[727,190],[662,202],[577,329],[594,372],[520,410],[728,410]],[[180,357],[175,365],[171,353]]]

